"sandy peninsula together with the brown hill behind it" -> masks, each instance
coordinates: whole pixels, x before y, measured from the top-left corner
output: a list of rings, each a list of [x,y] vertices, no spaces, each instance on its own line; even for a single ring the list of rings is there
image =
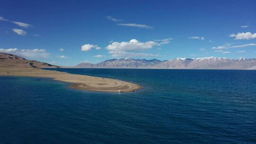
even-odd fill
[[[0,53],[0,76],[53,78],[54,80],[73,83],[70,87],[74,89],[89,91],[130,92],[141,89],[141,86],[126,81],[44,70],[37,67],[47,68],[56,66],[29,61],[13,54]]]

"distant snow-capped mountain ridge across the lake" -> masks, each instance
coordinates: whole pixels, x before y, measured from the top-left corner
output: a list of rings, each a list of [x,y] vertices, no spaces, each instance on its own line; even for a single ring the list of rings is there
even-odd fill
[[[139,68],[139,69],[235,69],[256,70],[256,58],[229,59],[223,57],[157,59],[110,59],[101,63],[80,63],[73,68]]]

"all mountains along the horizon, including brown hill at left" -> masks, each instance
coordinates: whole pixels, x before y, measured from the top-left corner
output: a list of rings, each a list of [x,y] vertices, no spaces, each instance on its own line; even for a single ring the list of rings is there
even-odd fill
[[[256,70],[256,58],[229,59],[221,57],[176,58],[169,61],[157,59],[110,59],[101,63],[80,63],[73,67],[62,67],[27,60],[14,54],[0,53],[0,67],[34,67],[34,68],[127,68],[127,69],[230,69]]]

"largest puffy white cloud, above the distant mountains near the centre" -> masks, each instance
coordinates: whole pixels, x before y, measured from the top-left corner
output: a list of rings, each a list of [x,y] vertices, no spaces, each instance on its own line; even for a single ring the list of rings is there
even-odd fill
[[[128,51],[142,51],[151,49],[155,45],[160,45],[154,41],[139,42],[136,39],[131,39],[129,42],[113,42],[106,47],[113,57],[138,57],[138,56],[158,56],[158,54],[134,53]]]

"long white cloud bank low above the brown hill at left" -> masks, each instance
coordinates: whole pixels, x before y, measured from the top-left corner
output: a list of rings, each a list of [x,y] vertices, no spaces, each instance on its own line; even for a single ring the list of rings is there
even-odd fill
[[[18,48],[9,48],[9,49],[0,48],[0,52],[16,54],[18,56],[23,56],[26,58],[47,58],[49,56],[49,54],[46,53],[45,49],[32,49],[32,50],[22,49],[22,50],[19,50]]]

